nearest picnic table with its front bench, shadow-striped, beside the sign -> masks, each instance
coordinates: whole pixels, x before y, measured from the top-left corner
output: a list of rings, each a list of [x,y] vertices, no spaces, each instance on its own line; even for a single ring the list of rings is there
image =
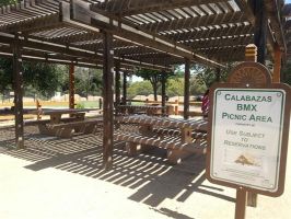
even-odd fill
[[[153,147],[167,150],[170,163],[176,164],[193,153],[206,153],[207,120],[185,120],[146,115],[118,116],[120,124],[133,124],[138,131],[117,130],[115,140],[126,141],[130,155]]]

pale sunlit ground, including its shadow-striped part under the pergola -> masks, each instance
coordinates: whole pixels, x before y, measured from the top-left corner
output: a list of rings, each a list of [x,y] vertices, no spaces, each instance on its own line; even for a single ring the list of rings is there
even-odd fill
[[[26,149],[11,149],[13,142],[13,128],[1,128],[1,219],[234,218],[235,191],[206,180],[203,155],[173,166],[162,150],[132,158],[116,143],[114,168],[105,172],[101,135],[60,139],[30,127]],[[284,194],[259,195],[246,218],[289,219],[290,206],[289,150]]]

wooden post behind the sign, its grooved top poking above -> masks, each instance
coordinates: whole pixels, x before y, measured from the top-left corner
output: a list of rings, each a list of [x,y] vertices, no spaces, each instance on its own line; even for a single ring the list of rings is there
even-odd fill
[[[249,44],[245,48],[245,60],[246,61],[257,61],[257,47],[254,44]],[[257,194],[247,192],[247,206],[257,206]]]

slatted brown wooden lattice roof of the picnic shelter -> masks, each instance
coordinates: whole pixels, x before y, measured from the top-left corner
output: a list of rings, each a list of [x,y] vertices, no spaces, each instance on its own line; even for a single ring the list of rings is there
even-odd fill
[[[265,3],[269,51],[287,51],[281,1]],[[290,14],[290,5],[283,11]],[[1,55],[12,54],[18,34],[23,58],[102,67],[104,31],[113,33],[124,69],[170,69],[185,58],[221,67],[244,59],[254,15],[245,0],[24,0],[0,8]]]

